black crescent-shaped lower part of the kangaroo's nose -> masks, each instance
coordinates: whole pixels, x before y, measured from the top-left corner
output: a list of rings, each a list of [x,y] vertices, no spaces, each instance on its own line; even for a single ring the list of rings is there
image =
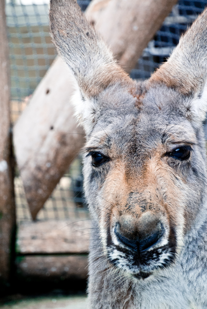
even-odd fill
[[[132,231],[131,236],[127,233],[128,237],[126,237],[124,233],[120,232],[120,224],[117,223],[114,233],[118,240],[125,246],[132,248],[135,251],[142,252],[155,245],[164,234],[164,231],[162,223],[160,222],[160,224],[157,224],[157,228],[154,231],[151,231],[150,235],[144,235],[143,237],[143,235],[139,235],[137,232]]]

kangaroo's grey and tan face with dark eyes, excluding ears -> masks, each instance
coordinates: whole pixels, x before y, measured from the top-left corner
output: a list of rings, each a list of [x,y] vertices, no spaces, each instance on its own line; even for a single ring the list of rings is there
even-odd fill
[[[102,110],[86,144],[85,194],[104,251],[137,278],[173,263],[205,191],[201,128],[182,115],[183,99],[156,89],[137,108],[129,95]]]

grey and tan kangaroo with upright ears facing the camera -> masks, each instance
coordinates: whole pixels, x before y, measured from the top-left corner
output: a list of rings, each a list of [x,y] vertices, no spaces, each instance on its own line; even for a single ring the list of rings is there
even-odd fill
[[[87,138],[88,308],[207,308],[207,9],[144,82],[76,0],[51,0],[50,27]]]

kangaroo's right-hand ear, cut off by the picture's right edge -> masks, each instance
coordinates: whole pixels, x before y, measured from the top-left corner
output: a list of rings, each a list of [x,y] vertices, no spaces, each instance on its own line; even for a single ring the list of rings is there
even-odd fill
[[[207,111],[207,9],[181,37],[170,58],[149,79],[188,96],[188,110],[199,120]]]

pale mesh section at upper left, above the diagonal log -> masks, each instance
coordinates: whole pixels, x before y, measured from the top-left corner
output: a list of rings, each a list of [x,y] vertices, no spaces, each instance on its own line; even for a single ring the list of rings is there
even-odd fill
[[[26,1],[27,3],[28,1]],[[11,109],[15,122],[56,57],[49,32],[49,5],[6,3],[11,67]],[[82,10],[90,0],[78,0]]]

